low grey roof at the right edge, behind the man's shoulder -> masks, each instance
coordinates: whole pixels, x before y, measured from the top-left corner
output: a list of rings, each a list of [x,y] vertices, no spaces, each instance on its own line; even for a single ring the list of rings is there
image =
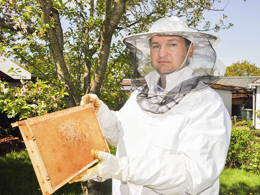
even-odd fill
[[[222,77],[218,82],[222,84],[240,86],[240,87],[249,87],[249,84],[252,84],[253,81],[258,79],[259,76],[225,76]],[[259,80],[260,82],[260,80]]]

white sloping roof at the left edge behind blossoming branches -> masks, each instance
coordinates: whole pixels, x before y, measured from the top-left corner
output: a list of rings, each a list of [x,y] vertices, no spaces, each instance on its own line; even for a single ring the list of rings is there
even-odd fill
[[[8,72],[11,68],[16,70],[14,72]],[[22,67],[18,66],[16,63],[8,60],[3,55],[0,56],[0,76],[3,77],[11,77],[12,79],[31,79],[31,73],[27,70],[23,69]]]

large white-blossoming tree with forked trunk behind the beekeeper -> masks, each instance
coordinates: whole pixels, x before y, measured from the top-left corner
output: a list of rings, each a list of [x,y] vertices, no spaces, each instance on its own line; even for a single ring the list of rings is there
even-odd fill
[[[129,76],[129,60],[119,41],[122,34],[147,31],[155,20],[171,15],[194,29],[202,21],[200,30],[230,28],[231,23],[224,24],[225,15],[213,28],[203,17],[205,10],[217,11],[218,2],[0,0],[0,52],[46,77],[54,75],[68,93],[66,106],[72,107],[80,104],[84,93],[101,93],[102,99]],[[39,61],[44,67],[39,68]]]

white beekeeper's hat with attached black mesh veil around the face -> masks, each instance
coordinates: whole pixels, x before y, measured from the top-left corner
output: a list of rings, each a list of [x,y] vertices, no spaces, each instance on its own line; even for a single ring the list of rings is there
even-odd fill
[[[174,77],[171,74],[167,75],[169,84],[159,96],[155,86],[159,82],[160,75],[151,63],[149,45],[149,40],[155,35],[181,36],[191,41],[194,46],[192,58],[189,59],[191,75],[175,85],[171,83]],[[214,50],[220,41],[219,37],[190,31],[187,25],[176,16],[161,18],[154,22],[148,33],[129,35],[122,38],[121,41],[129,49],[133,66],[131,84],[140,91],[136,100],[145,111],[166,113],[177,105],[187,93],[205,89],[216,83],[225,74],[225,66],[217,60]],[[147,80],[149,83],[153,81],[150,86],[146,84]]]

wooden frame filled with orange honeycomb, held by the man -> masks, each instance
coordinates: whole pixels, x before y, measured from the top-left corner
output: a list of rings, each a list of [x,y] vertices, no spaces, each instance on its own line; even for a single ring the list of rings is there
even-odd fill
[[[92,103],[18,121],[43,195],[93,165],[95,148],[110,152]]]

